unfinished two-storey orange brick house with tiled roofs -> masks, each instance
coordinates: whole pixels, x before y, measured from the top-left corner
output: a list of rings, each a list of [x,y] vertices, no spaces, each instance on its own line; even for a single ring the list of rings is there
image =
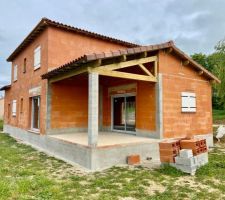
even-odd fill
[[[4,130],[47,152],[46,140],[68,133],[87,135],[91,152],[100,132],[212,145],[211,84],[220,81],[172,41],[139,46],[44,18],[8,61]],[[117,164],[98,166],[93,152],[83,164],[81,154],[74,161],[91,169]]]

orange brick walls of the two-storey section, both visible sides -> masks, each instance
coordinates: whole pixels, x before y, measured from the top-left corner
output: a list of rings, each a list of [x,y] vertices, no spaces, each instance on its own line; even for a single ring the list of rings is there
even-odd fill
[[[34,49],[39,45],[41,46],[41,68],[34,70]],[[5,117],[5,123],[23,129],[30,129],[31,110],[29,89],[41,86],[40,132],[44,134],[46,127],[47,81],[41,80],[41,75],[52,68],[58,67],[83,55],[84,53],[92,53],[95,51],[102,52],[121,48],[124,47],[111,42],[73,34],[57,28],[47,28],[12,62],[12,73],[13,66],[15,64],[18,65],[18,80],[16,82],[12,81],[11,89],[6,91],[6,109],[4,115],[7,117]],[[27,71],[25,74],[23,73],[24,58],[27,59]],[[21,98],[23,98],[23,112],[20,112]],[[8,104],[11,105],[12,100],[17,100],[16,117],[8,114]],[[60,126],[65,126],[65,124]]]

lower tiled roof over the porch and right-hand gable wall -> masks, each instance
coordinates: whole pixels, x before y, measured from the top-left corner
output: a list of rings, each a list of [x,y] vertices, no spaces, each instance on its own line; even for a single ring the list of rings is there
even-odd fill
[[[166,43],[156,44],[156,45],[149,45],[149,46],[139,46],[139,47],[133,47],[133,48],[127,48],[117,51],[111,51],[111,52],[102,52],[102,53],[93,53],[93,54],[85,54],[79,58],[76,58],[75,60],[70,61],[69,63],[66,63],[62,66],[59,66],[52,71],[47,72],[46,74],[42,75],[42,79],[50,79],[54,76],[66,73],[70,70],[73,70],[74,68],[78,66],[82,66],[82,64],[95,61],[98,59],[109,59],[114,57],[119,57],[122,55],[135,55],[143,52],[152,52],[152,51],[158,51],[162,49],[168,49],[172,48],[173,51],[181,57],[183,60],[188,60],[194,68],[198,69],[199,71],[203,71],[204,75],[207,76],[210,80],[215,80],[216,82],[220,83],[220,80],[214,76],[211,72],[206,70],[204,67],[202,67],[200,64],[195,62],[191,57],[186,55],[183,51],[181,51],[179,48],[177,48],[173,41],[169,41]]]

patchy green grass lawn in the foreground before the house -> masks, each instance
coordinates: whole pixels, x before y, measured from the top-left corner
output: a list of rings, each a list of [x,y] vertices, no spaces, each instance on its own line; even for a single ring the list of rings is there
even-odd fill
[[[196,176],[165,166],[87,173],[0,134],[0,199],[225,199],[225,148]]]

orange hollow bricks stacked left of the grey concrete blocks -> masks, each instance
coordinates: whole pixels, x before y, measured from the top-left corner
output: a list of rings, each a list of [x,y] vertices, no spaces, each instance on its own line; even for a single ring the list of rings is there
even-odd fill
[[[162,163],[174,163],[175,157],[179,155],[180,141],[168,140],[159,143],[160,161]]]

